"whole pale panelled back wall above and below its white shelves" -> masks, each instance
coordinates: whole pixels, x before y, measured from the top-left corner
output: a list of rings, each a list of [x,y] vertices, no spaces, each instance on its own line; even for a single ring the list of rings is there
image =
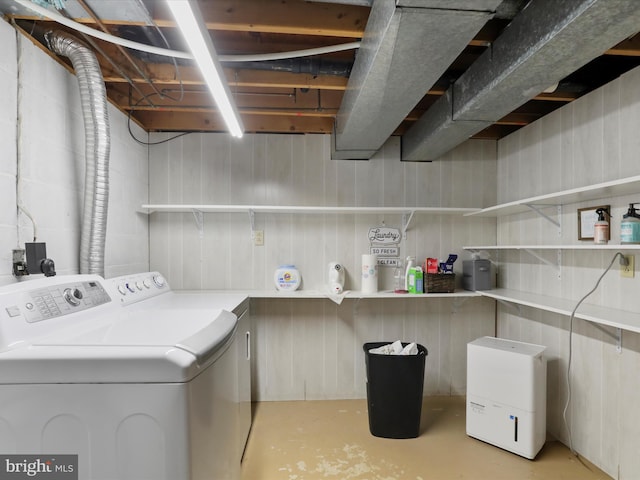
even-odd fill
[[[152,135],[157,139],[164,135]],[[189,137],[193,137],[189,139]],[[495,203],[495,142],[472,141],[442,162],[400,161],[392,138],[369,161],[331,160],[326,135],[197,134],[151,148],[151,203],[306,206],[473,207]],[[173,288],[268,289],[284,263],[302,288],[321,290],[327,264],[346,266],[346,288],[360,289],[370,227],[400,228],[402,215],[255,214],[264,246],[254,246],[247,214],[205,214],[202,238],[191,214],[150,217],[151,265]],[[401,256],[469,254],[462,245],[495,242],[495,220],[416,214]],[[380,269],[391,289],[393,269]],[[478,308],[481,306],[481,308]],[[482,299],[459,309],[439,300],[254,299],[254,392],[259,400],[361,398],[366,341],[417,340],[430,351],[425,392],[463,393],[466,343],[494,332]],[[428,342],[428,343],[427,343]],[[432,353],[431,353],[432,352]]]

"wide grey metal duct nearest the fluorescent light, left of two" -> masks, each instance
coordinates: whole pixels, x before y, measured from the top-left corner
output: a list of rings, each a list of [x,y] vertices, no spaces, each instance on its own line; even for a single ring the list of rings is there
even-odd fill
[[[369,159],[502,0],[375,0],[332,136],[332,158]]]

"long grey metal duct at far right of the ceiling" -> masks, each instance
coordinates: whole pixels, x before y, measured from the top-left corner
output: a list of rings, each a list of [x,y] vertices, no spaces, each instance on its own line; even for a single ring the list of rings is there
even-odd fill
[[[402,159],[439,158],[635,34],[639,25],[638,0],[530,2],[404,134]]]

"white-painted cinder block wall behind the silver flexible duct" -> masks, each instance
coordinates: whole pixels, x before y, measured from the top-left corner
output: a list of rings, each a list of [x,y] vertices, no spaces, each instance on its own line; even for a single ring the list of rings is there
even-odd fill
[[[11,251],[34,236],[31,221],[18,213],[18,189],[58,275],[79,273],[84,124],[76,77],[4,20],[0,45],[0,285],[16,281]],[[148,220],[136,213],[148,198],[149,174],[147,148],[131,139],[127,117],[111,105],[109,117],[105,275],[113,277],[149,268]]]

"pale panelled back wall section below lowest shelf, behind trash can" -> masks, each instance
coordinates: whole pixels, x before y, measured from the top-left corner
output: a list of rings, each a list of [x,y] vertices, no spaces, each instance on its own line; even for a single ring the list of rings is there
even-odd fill
[[[468,300],[253,299],[260,400],[362,398],[363,345],[410,338],[428,349],[426,395],[464,394],[466,344],[493,334],[493,303]]]

